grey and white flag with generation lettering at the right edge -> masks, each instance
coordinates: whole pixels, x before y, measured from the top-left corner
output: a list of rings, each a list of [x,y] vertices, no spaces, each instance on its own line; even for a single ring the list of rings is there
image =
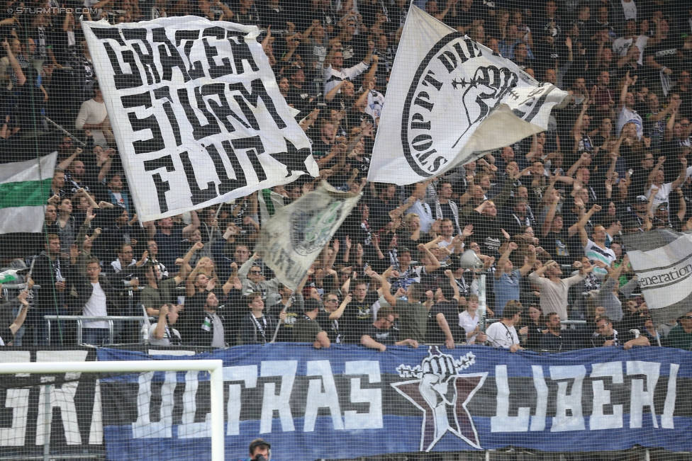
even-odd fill
[[[692,311],[692,234],[671,229],[625,234],[625,247],[654,325]]]

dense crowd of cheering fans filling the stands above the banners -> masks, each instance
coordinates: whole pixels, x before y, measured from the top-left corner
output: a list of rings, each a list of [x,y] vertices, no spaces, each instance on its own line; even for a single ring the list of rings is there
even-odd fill
[[[692,350],[692,312],[652,324],[621,237],[692,229],[692,5],[414,3],[569,91],[570,103],[553,110],[547,131],[444,176],[411,186],[367,183],[394,56],[406,59],[397,44],[408,1],[86,0],[86,16],[112,23],[193,14],[258,25],[320,166],[320,178],[140,223],[128,186],[137,179],[123,174],[79,18],[53,0],[40,14],[12,13],[20,4],[6,1],[0,142],[47,129],[40,115],[74,137],[58,146],[44,243],[26,280],[40,289],[3,292],[4,343],[45,344],[44,315],[145,309],[153,318],[145,336],[160,345],[265,343],[278,331],[277,341],[381,351],[462,342],[512,351]],[[262,262],[259,230],[320,180],[364,196],[293,292]],[[469,249],[482,269],[462,268],[459,256]],[[6,257],[2,266],[32,260]],[[485,332],[476,312],[481,273],[489,317],[499,319]],[[561,324],[569,319],[586,326]],[[50,340],[74,343],[73,329],[53,321]],[[142,339],[138,323],[117,334],[118,342]],[[84,342],[107,338],[105,321],[84,324]]]

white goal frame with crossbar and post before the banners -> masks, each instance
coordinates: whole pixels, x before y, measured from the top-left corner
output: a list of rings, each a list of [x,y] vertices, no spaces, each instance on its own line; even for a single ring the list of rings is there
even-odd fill
[[[223,361],[222,360],[141,360],[113,362],[35,362],[3,363],[0,375],[15,373],[68,372],[147,372],[208,371],[211,387],[211,461],[224,459],[223,434]],[[49,400],[49,399],[47,399]],[[46,413],[48,414],[48,412]]]

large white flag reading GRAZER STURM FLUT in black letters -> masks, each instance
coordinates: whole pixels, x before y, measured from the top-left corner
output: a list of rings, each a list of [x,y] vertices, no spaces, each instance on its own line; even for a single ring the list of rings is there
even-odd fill
[[[254,25],[186,16],[82,28],[140,221],[317,176]]]

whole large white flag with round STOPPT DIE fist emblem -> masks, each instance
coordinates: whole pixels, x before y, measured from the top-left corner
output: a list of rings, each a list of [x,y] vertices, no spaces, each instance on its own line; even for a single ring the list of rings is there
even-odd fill
[[[423,181],[545,131],[550,109],[567,96],[411,6],[368,179]]]

